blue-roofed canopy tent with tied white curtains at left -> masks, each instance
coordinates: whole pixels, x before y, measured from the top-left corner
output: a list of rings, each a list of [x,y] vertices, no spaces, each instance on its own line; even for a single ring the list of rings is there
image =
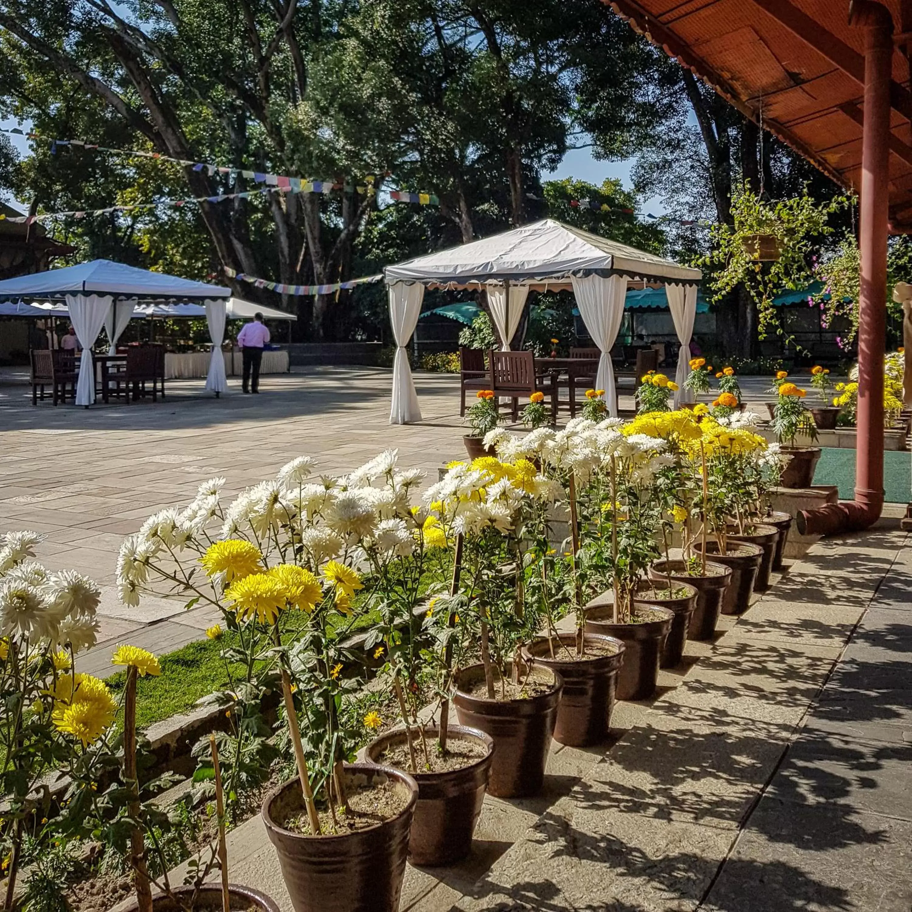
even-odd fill
[[[226,318],[228,288],[206,285],[176,275],[153,273],[109,260],[93,260],[61,269],[50,269],[34,275],[20,275],[0,282],[0,297],[57,299],[66,303],[70,322],[76,329],[79,345],[88,351],[98,339],[101,327],[107,323],[111,344],[140,301],[194,300],[202,302],[212,338],[212,358],[206,389],[216,396],[228,389],[225,377],[222,340]],[[128,309],[129,308],[129,309]],[[88,408],[95,401],[95,378],[91,358],[82,358],[76,388],[76,403]]]

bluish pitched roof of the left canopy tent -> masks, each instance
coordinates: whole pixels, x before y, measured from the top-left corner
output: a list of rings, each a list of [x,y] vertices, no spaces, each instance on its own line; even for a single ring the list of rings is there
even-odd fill
[[[110,260],[92,260],[75,266],[19,275],[0,282],[2,297],[62,297],[63,295],[118,295],[140,298],[213,299],[229,297],[231,290],[176,275],[153,273]]]

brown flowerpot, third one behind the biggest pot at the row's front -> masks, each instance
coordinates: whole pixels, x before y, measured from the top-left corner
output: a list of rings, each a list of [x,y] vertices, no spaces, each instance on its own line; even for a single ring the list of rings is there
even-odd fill
[[[577,660],[575,633],[553,639],[554,658],[547,637],[538,637],[523,646],[523,658],[535,666],[549,668],[564,680],[554,722],[554,741],[569,747],[587,747],[604,741],[615,705],[617,671],[624,661],[624,644],[613,637],[587,633],[584,647],[590,651]],[[609,648],[612,652],[605,655],[593,652],[593,648]]]

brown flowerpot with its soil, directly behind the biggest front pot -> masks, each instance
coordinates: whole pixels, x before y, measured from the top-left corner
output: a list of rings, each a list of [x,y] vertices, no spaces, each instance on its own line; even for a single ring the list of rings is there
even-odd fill
[[[418,803],[411,821],[409,862],[451,865],[472,851],[472,834],[482,813],[494,742],[483,731],[451,725],[447,751],[440,753],[438,729],[425,729],[424,741],[412,737],[418,772],[405,731],[388,731],[368,744],[368,760],[405,770],[418,782]],[[425,752],[425,749],[427,752]]]

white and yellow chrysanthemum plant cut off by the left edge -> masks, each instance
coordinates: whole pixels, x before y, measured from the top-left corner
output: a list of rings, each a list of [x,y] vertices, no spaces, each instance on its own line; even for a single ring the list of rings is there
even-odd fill
[[[88,577],[48,571],[31,560],[42,536],[0,537],[0,859],[6,877],[4,909],[14,907],[26,828],[43,801],[37,789],[49,768],[66,765],[69,751],[57,730],[94,731],[113,718],[113,702],[79,700],[59,712],[48,700],[73,677],[73,657],[95,645],[99,590]],[[92,682],[97,679],[91,679]],[[101,682],[98,681],[100,685]],[[91,684],[86,678],[83,694]],[[103,688],[103,685],[101,685]]]

